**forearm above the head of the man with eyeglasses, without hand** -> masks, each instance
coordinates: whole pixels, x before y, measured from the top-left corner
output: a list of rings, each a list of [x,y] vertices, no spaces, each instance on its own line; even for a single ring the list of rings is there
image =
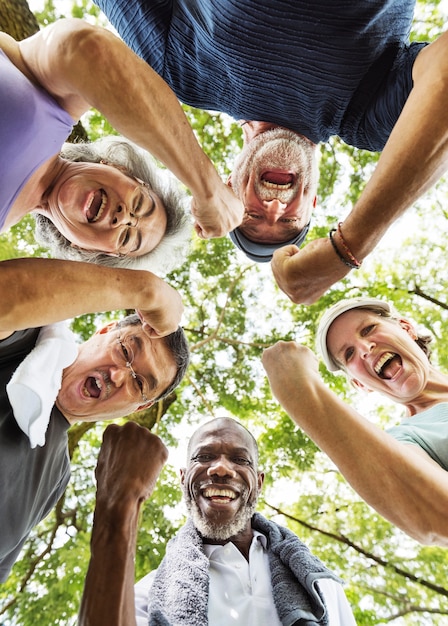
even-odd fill
[[[56,259],[0,263],[0,331],[51,324],[84,313],[150,308],[160,279],[150,272]]]

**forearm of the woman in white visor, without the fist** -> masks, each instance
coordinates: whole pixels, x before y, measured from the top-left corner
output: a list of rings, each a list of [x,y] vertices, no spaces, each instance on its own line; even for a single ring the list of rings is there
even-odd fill
[[[421,543],[448,546],[448,474],[395,441],[320,382],[294,391],[282,406],[383,517]]]

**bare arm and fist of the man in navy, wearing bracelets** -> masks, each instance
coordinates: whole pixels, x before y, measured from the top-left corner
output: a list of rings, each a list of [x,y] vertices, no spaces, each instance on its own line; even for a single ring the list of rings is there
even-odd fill
[[[412,77],[414,86],[375,172],[343,223],[344,243],[361,262],[448,167],[448,33],[421,50]],[[336,243],[344,253],[341,241]],[[349,271],[328,238],[293,255],[287,251],[275,253],[272,269],[297,304],[315,302]]]

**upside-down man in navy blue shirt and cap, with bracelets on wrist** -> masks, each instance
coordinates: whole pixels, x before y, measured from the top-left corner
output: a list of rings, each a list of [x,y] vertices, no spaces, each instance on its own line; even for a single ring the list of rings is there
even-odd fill
[[[245,216],[231,237],[256,261],[281,248],[272,268],[294,302],[359,267],[445,170],[448,35],[410,43],[413,0],[96,1],[181,101],[241,120],[231,184]],[[299,254],[316,202],[315,146],[331,135],[383,153],[344,224]]]

